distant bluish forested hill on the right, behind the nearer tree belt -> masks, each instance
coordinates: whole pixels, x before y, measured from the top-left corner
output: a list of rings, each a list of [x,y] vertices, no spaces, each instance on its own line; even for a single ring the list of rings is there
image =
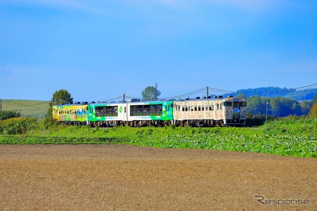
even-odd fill
[[[259,87],[259,88],[247,88],[238,89],[237,92],[243,93],[244,96],[250,97],[259,95],[260,97],[288,97],[294,100],[312,100],[317,93],[317,88],[310,88],[304,90],[295,90],[292,88],[280,88],[280,87]],[[236,95],[237,93],[231,93]]]

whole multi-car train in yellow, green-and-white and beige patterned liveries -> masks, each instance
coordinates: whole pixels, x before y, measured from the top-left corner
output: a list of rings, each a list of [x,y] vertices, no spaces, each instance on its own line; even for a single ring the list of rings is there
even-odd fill
[[[185,100],[83,102],[53,106],[53,118],[68,125],[111,126],[242,126],[247,102],[228,96]]]

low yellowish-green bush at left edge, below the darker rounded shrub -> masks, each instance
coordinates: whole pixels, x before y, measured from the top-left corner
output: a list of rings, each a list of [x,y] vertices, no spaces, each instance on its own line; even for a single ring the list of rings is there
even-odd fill
[[[0,133],[3,134],[24,134],[38,127],[38,120],[33,117],[17,117],[0,121]]]

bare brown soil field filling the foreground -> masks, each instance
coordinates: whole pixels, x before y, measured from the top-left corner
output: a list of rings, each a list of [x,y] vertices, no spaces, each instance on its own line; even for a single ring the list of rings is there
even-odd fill
[[[312,205],[265,206],[265,199]],[[0,145],[0,210],[317,210],[317,159],[126,145]]]

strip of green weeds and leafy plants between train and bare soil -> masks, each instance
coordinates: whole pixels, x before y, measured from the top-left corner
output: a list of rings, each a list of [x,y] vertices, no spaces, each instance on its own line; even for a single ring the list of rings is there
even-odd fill
[[[43,120],[30,117],[14,118],[0,121],[0,144],[130,144],[317,158],[317,119],[294,116],[272,119],[267,122],[265,134],[265,125],[228,128],[193,128],[174,125],[110,128],[66,125],[48,127]]]

